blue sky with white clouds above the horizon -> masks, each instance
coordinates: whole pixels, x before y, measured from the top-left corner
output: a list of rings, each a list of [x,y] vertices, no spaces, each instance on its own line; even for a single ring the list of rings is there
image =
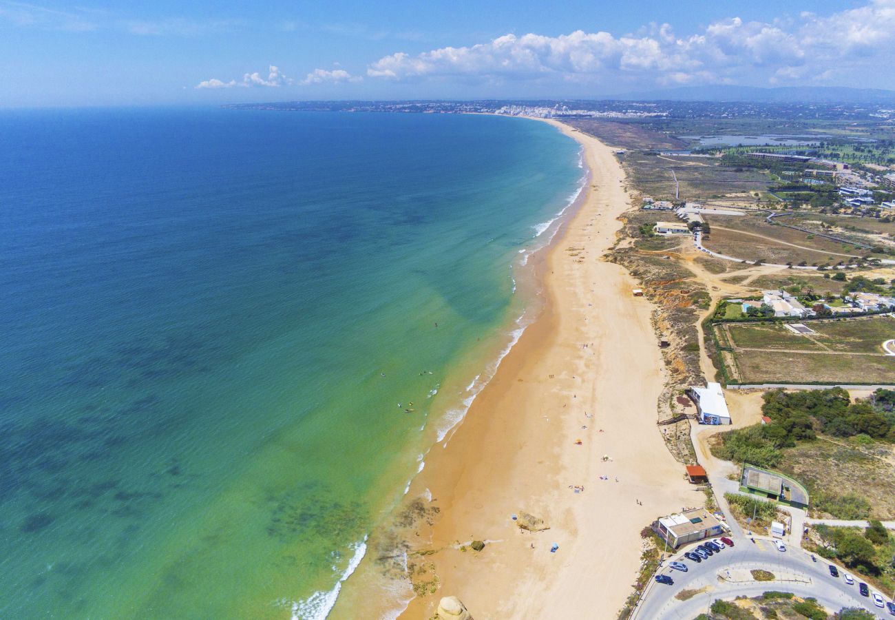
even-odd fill
[[[893,43],[895,0],[0,0],[0,107],[893,89]]]

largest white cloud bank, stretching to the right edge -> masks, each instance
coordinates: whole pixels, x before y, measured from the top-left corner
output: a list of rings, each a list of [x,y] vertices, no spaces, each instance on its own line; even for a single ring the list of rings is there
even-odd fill
[[[507,34],[467,47],[397,52],[368,65],[367,74],[392,81],[791,82],[814,79],[843,54],[891,57],[893,42],[895,0],[872,0],[828,17],[802,13],[787,23],[732,17],[686,36],[669,24],[626,36]]]

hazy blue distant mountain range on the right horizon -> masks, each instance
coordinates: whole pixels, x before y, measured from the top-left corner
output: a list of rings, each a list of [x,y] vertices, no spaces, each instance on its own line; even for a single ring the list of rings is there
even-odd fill
[[[854,89],[843,86],[681,86],[608,96],[605,99],[653,101],[761,101],[778,103],[893,103],[895,90]]]

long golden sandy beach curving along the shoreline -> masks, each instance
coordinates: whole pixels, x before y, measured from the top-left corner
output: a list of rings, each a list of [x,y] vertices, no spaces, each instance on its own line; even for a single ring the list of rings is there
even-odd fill
[[[664,375],[652,306],[601,259],[629,206],[624,172],[609,146],[546,122],[584,145],[590,184],[545,258],[543,314],[414,481],[440,508],[418,547],[438,550],[426,561],[440,587],[402,617],[429,618],[449,595],[480,620],[615,617],[640,530],[703,501],[655,424]],[[522,532],[520,511],[550,530]],[[473,538],[489,541],[482,552],[456,548]]]

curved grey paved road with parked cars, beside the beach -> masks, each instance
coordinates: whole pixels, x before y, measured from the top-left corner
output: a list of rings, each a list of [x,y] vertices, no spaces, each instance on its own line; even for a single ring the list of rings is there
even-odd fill
[[[679,556],[675,559],[679,559]],[[792,547],[786,552],[777,551],[767,538],[756,538],[755,543],[748,538],[739,540],[736,547],[725,548],[720,554],[703,560],[701,564],[689,560],[684,563],[690,568],[686,573],[668,568],[666,562],[661,574],[669,575],[674,584],[666,586],[652,581],[634,618],[692,620],[717,598],[752,597],[767,590],[781,590],[817,598],[818,602],[832,611],[839,611],[842,607],[864,607],[879,618],[891,620],[891,616],[884,610],[874,607],[872,600],[860,596],[857,581],[849,586],[841,576],[831,577],[828,564],[822,558],[818,557],[816,563],[812,562],[809,555]],[[737,572],[758,568],[778,576],[785,575],[791,581],[727,581],[728,571],[732,573],[733,579],[737,579]],[[675,598],[681,590],[702,589],[705,590],[686,601]]]

